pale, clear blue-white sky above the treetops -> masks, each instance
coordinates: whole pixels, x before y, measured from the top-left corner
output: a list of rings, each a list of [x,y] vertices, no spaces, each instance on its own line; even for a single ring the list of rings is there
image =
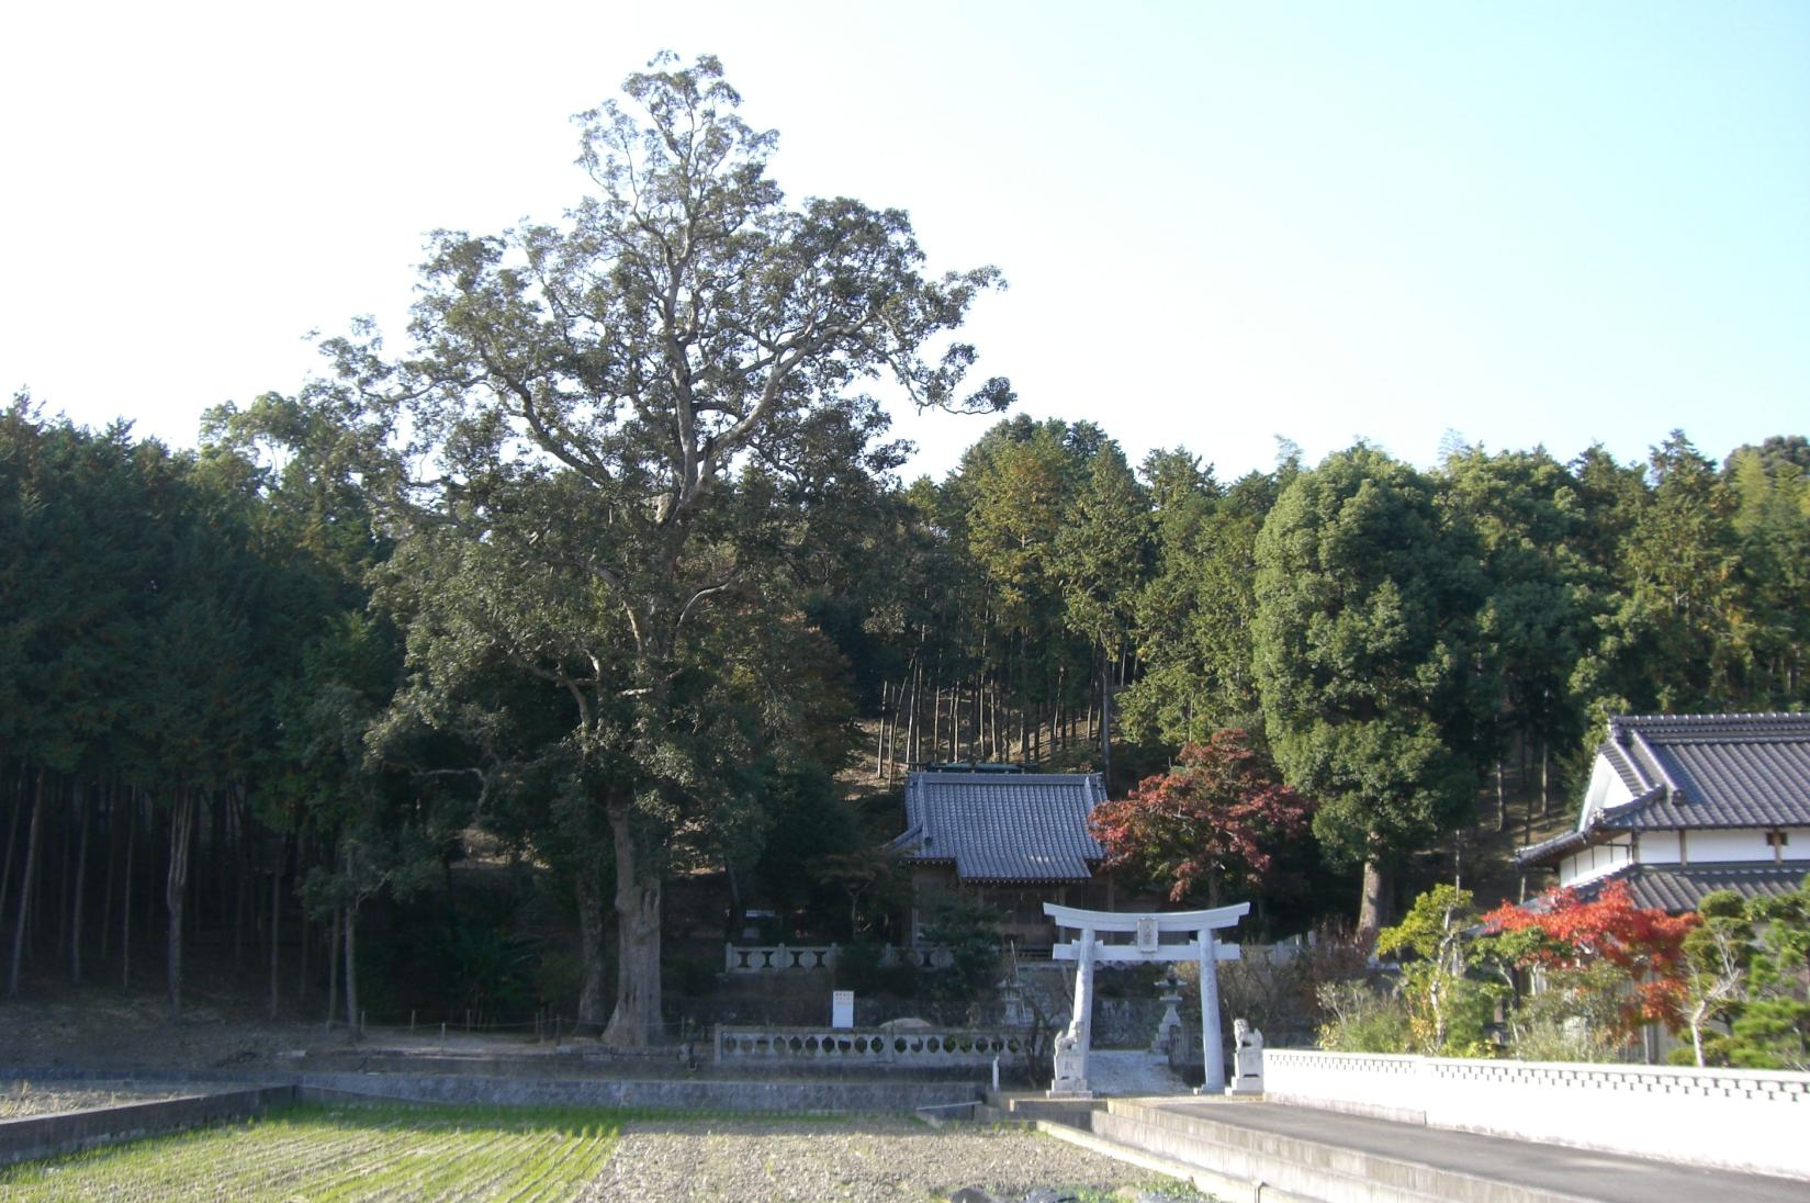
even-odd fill
[[[400,340],[424,232],[563,212],[661,47],[793,195],[1001,266],[983,371],[1133,458],[1810,431],[1796,0],[7,5],[0,389],[192,443],[308,329]],[[941,472],[983,423],[901,429]]]

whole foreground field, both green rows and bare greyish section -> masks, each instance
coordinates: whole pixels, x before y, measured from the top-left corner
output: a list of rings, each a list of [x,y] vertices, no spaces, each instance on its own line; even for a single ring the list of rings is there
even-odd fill
[[[297,1104],[217,1127],[0,1167],[0,1199],[1200,1199],[1014,1127],[775,1116]]]

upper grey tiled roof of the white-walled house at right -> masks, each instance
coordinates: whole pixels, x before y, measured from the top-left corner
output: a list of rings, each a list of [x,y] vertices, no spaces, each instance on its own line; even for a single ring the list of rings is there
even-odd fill
[[[1631,715],[1600,751],[1645,796],[1605,827],[1810,825],[1810,715]]]

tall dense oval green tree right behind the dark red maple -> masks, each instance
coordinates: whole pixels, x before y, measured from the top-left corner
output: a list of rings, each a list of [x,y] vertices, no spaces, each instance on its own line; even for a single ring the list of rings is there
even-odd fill
[[[1256,678],[1276,763],[1318,800],[1314,834],[1363,865],[1359,932],[1394,868],[1470,814],[1497,687],[1477,631],[1475,534],[1372,447],[1289,485],[1256,543]]]

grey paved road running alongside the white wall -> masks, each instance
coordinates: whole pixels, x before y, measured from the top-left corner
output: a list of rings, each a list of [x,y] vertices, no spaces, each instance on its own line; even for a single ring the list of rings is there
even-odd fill
[[[1196,1114],[1276,1136],[1415,1161],[1602,1203],[1806,1203],[1810,1181],[1698,1169],[1615,1152],[1569,1149],[1415,1123],[1348,1116],[1318,1107],[1236,1100],[1148,1098],[1151,1107]],[[1810,1132],[1805,1134],[1810,1140]]]

